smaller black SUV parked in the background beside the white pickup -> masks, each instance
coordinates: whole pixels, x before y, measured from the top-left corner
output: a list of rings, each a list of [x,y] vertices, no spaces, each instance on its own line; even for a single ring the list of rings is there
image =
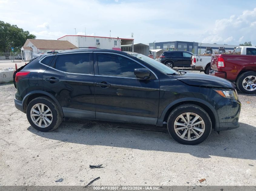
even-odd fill
[[[160,62],[170,68],[191,66],[191,56],[194,54],[187,51],[165,51],[160,56]]]

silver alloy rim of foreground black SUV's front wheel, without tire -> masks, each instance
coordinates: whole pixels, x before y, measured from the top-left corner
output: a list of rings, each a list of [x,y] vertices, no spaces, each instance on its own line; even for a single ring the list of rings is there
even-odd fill
[[[175,119],[174,130],[180,138],[194,141],[204,133],[204,120],[196,113],[183,113]]]

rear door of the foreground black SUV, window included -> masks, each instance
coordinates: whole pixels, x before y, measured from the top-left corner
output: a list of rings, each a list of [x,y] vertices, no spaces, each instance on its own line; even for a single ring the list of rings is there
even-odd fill
[[[57,54],[44,72],[43,84],[59,101],[65,117],[95,119],[92,52]]]

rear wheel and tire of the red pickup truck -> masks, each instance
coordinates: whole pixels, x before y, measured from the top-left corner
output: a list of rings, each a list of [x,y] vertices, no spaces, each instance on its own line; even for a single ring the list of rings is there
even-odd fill
[[[241,92],[256,94],[256,72],[244,72],[238,77],[236,84]]]

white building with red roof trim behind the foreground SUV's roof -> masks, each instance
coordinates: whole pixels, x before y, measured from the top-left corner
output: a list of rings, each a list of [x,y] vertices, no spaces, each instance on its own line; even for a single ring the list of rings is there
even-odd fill
[[[79,49],[104,48],[121,51],[121,45],[133,44],[133,39],[114,38],[114,37],[96,37],[84,35],[65,35],[58,40],[67,40]]]

